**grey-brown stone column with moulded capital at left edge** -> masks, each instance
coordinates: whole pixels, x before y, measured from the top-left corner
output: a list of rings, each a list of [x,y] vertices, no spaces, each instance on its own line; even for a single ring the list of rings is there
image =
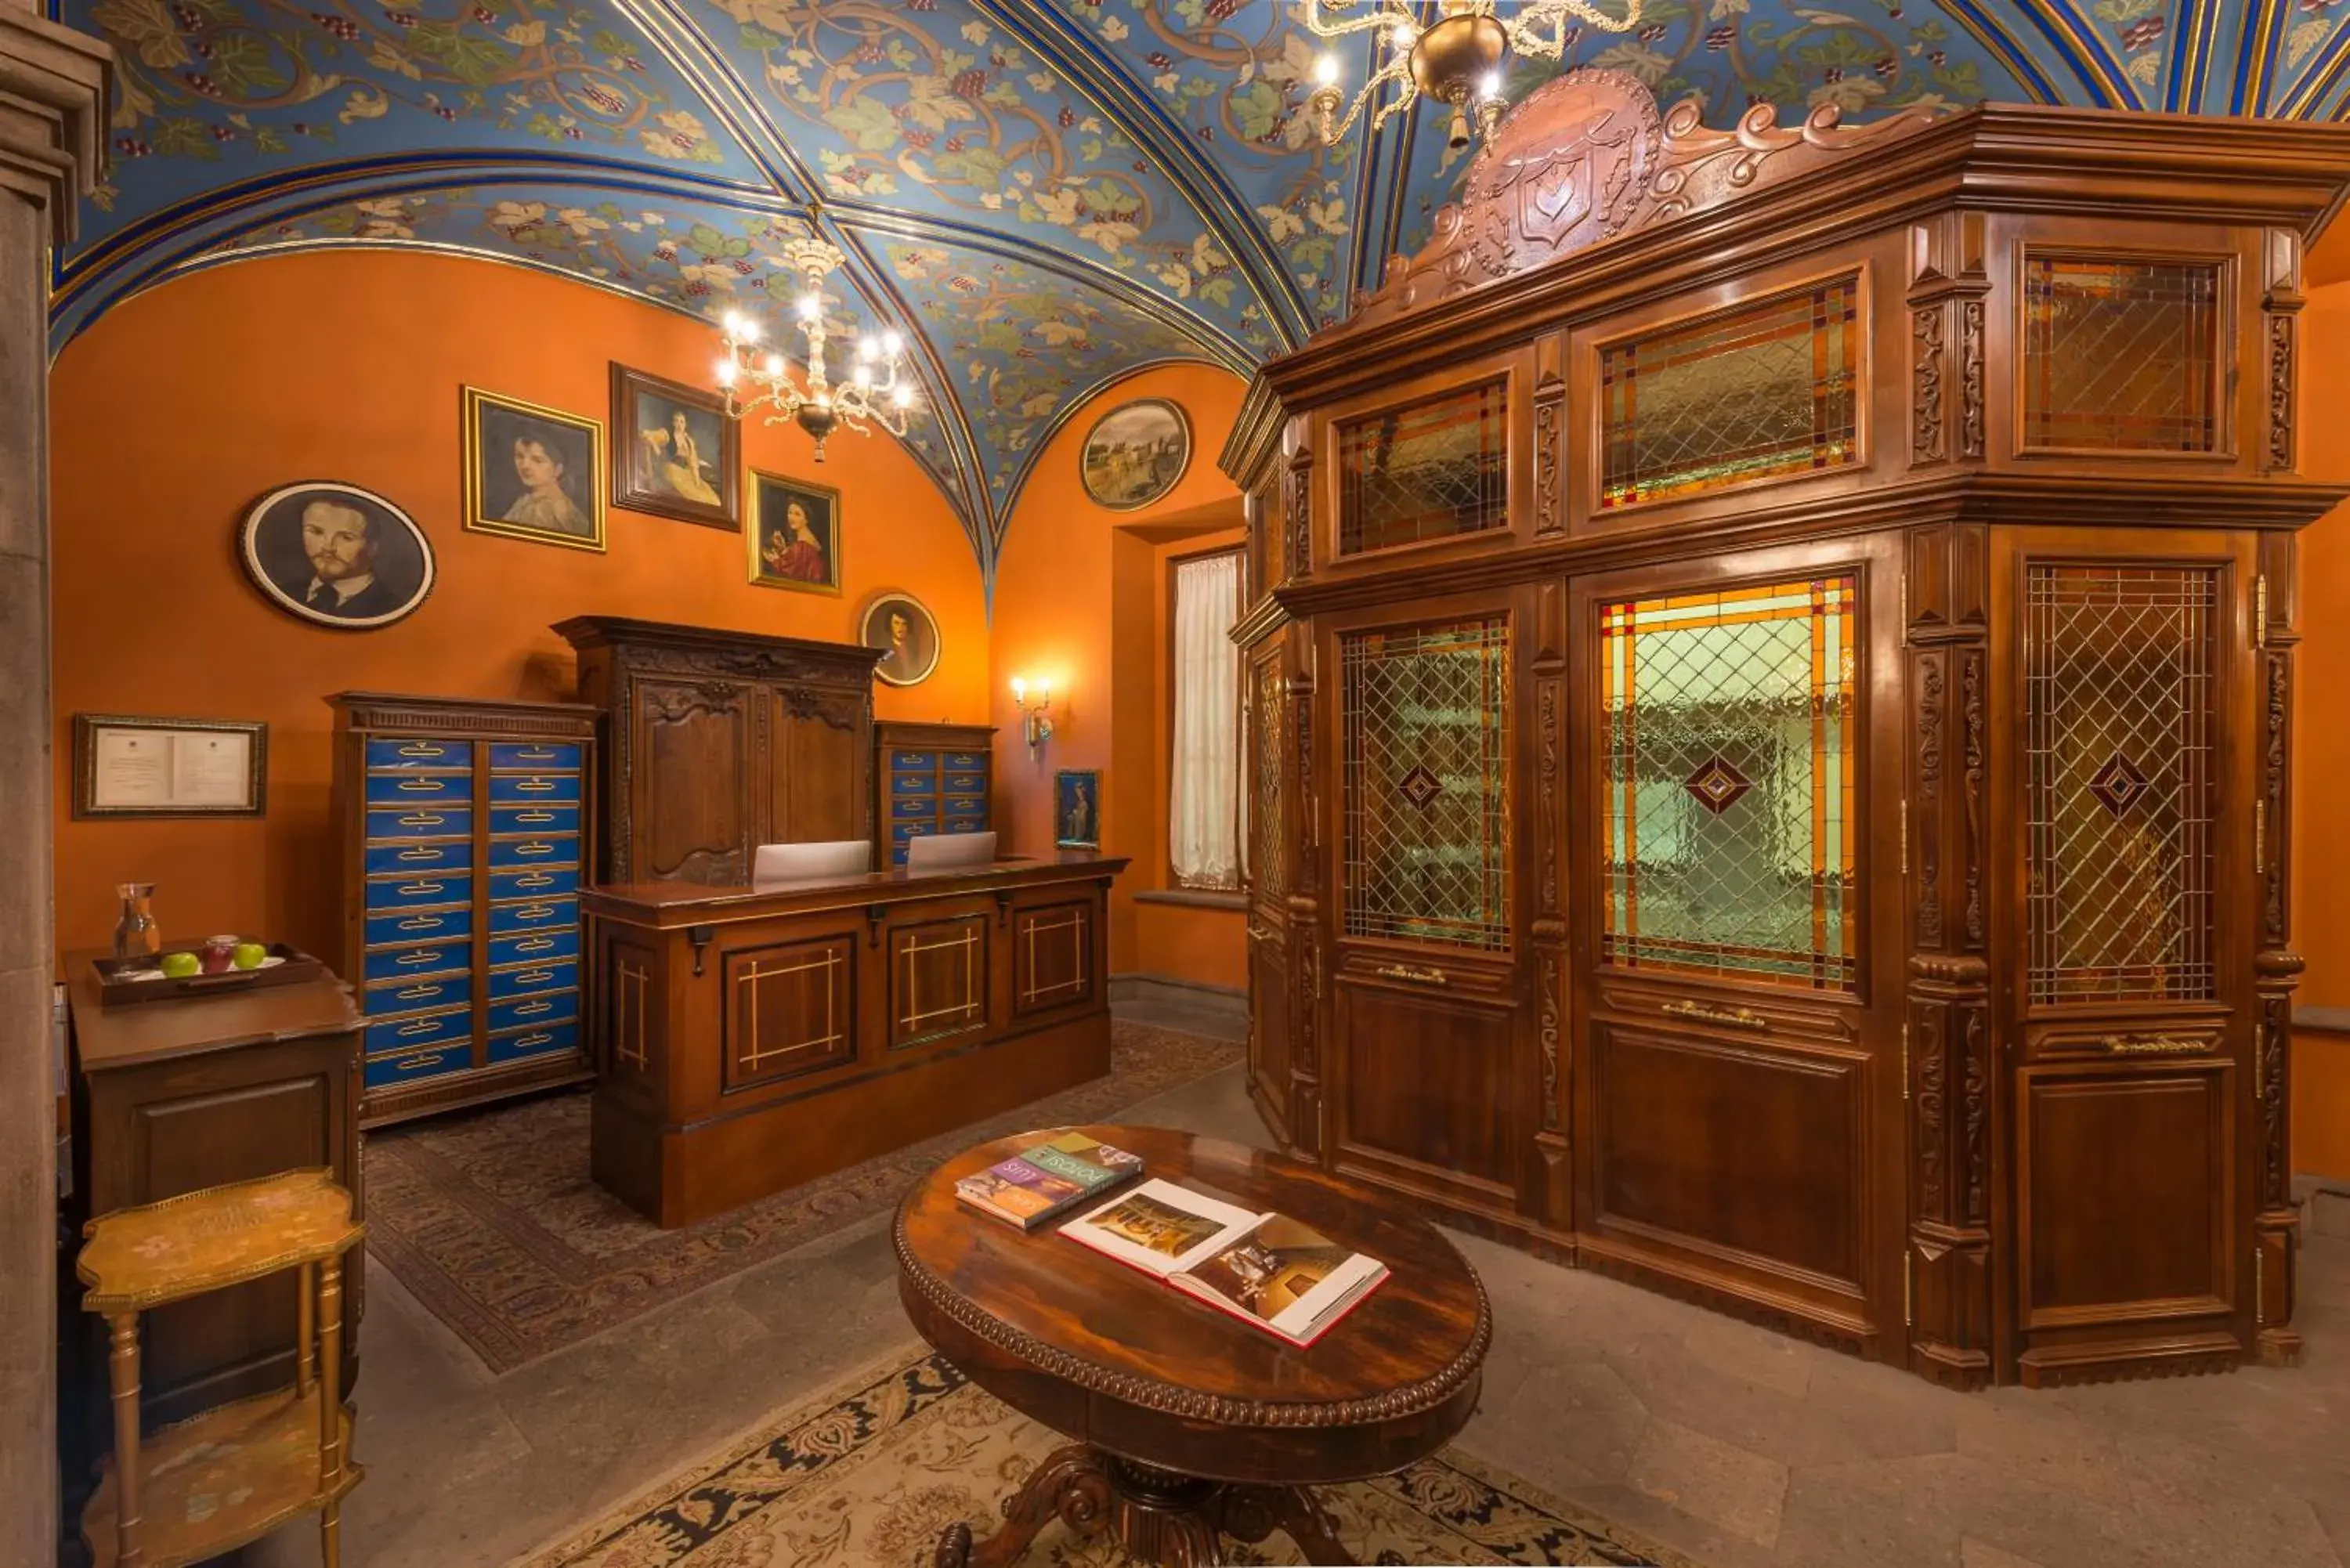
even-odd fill
[[[106,45],[0,0],[0,1561],[56,1556],[49,247],[106,158]]]

